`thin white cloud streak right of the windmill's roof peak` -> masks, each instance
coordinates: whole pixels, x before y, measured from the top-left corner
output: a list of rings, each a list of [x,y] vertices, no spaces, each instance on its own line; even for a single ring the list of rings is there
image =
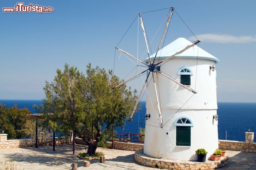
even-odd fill
[[[234,36],[229,34],[198,34],[196,37],[203,42],[244,44],[256,42],[256,36]],[[188,38],[194,40],[194,36]]]

